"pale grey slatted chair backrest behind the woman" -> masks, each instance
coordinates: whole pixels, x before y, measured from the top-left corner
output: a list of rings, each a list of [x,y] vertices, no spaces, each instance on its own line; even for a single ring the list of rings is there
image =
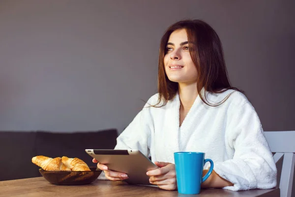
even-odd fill
[[[291,197],[295,167],[295,131],[265,131],[266,140],[278,168],[281,197]],[[281,167],[278,167],[281,164]]]

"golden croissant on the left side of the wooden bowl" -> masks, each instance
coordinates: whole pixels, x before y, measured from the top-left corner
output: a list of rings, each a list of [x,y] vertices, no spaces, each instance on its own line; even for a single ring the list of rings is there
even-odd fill
[[[60,157],[53,159],[45,156],[36,156],[32,158],[32,163],[47,171],[71,171],[71,168],[61,162]]]

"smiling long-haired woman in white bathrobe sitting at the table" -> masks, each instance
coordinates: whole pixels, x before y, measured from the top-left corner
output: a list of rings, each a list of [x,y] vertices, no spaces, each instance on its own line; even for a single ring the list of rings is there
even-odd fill
[[[118,136],[115,149],[138,149],[150,156],[159,168],[147,172],[149,181],[165,190],[177,189],[173,153],[179,151],[205,152],[213,160],[203,188],[276,186],[276,166],[259,117],[231,86],[220,39],[201,20],[179,21],[163,35],[158,94]],[[128,178],[97,166],[110,180]]]

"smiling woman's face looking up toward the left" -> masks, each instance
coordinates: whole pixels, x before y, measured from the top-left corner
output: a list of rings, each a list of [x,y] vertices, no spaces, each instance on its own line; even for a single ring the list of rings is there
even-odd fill
[[[187,84],[197,82],[197,68],[189,53],[191,46],[185,29],[171,33],[164,57],[165,71],[170,81]]]

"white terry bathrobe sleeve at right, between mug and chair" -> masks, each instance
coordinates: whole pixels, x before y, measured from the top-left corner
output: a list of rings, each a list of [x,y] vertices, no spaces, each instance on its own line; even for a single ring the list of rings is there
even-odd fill
[[[276,186],[276,165],[268,147],[258,115],[246,99],[228,108],[226,147],[235,151],[231,160],[214,164],[214,171],[238,191],[269,189]]]

